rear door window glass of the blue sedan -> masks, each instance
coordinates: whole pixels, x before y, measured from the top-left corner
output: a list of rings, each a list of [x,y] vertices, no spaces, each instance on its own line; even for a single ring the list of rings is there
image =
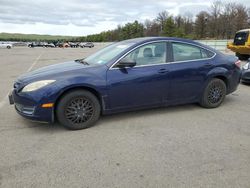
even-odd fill
[[[174,61],[187,61],[212,57],[214,54],[203,48],[184,43],[172,43]]]

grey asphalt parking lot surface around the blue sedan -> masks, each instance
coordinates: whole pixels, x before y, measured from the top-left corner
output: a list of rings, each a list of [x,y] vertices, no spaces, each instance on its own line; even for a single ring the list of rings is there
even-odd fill
[[[217,109],[123,113],[81,131],[29,122],[8,105],[21,73],[97,48],[0,49],[0,187],[250,187],[250,86]]]

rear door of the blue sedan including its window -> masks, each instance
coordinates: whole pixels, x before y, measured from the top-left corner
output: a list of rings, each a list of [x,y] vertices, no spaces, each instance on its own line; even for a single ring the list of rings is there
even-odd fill
[[[182,103],[197,100],[207,73],[214,67],[213,52],[189,43],[171,42],[170,89],[165,101]]]

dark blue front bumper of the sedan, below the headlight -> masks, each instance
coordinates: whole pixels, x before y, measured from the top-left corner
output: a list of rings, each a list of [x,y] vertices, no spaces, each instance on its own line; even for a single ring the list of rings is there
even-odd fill
[[[20,94],[15,89],[9,94],[9,103],[15,105],[17,113],[27,119],[39,122],[53,122],[53,108],[42,108],[41,101],[29,95]]]

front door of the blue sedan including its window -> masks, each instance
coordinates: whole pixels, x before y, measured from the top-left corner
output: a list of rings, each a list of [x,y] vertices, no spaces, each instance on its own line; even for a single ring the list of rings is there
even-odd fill
[[[161,104],[169,86],[166,54],[166,42],[146,44],[123,58],[135,61],[135,67],[113,66],[108,70],[107,108],[126,109]]]

